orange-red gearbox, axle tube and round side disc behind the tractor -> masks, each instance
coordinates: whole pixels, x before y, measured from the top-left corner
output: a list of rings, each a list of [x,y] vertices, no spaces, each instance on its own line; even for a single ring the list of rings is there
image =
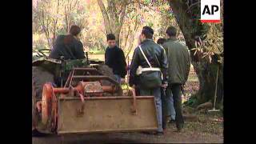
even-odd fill
[[[79,82],[78,86],[73,90],[77,90],[82,96],[102,96],[102,92],[113,93],[114,86],[101,86],[99,82]],[[57,109],[58,100],[55,94],[66,94],[70,92],[70,88],[54,88],[50,82],[46,83],[42,89],[42,124],[54,131],[57,128]],[[81,95],[80,95],[81,96]]]

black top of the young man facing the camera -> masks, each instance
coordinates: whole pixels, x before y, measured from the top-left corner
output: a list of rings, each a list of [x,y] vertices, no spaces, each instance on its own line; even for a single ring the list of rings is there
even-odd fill
[[[106,48],[105,64],[112,68],[113,73],[119,75],[121,78],[125,78],[126,71],[126,58],[122,49],[118,46],[113,48]]]

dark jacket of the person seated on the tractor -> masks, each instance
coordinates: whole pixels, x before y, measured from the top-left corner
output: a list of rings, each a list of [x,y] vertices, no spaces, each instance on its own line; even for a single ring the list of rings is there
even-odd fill
[[[61,59],[64,56],[65,60],[86,58],[83,51],[82,42],[72,37],[67,44],[64,43],[66,35],[59,35],[54,43],[54,49],[50,52],[50,58]]]

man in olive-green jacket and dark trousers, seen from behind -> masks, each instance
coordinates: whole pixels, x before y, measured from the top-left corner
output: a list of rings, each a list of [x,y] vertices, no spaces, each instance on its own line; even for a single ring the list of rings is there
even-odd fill
[[[182,85],[185,85],[190,73],[190,53],[186,46],[177,41],[177,30],[169,26],[166,30],[167,41],[162,45],[168,58],[168,86],[166,98],[174,97],[175,121],[178,131],[182,130],[184,120],[182,117]],[[170,102],[167,102],[170,104]]]

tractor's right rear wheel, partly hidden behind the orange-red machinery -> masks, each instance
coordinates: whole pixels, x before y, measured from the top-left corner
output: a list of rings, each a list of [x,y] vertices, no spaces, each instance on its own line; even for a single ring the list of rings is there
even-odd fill
[[[97,70],[100,71],[102,74],[104,74],[104,75],[106,75],[110,78],[115,79],[114,74],[113,74],[113,70],[109,66],[101,64],[101,65],[98,66]],[[103,86],[109,86],[110,82],[102,80],[102,85]],[[122,87],[120,85],[118,85],[117,88],[118,88],[118,90],[114,95],[115,96],[122,96],[123,95]]]

